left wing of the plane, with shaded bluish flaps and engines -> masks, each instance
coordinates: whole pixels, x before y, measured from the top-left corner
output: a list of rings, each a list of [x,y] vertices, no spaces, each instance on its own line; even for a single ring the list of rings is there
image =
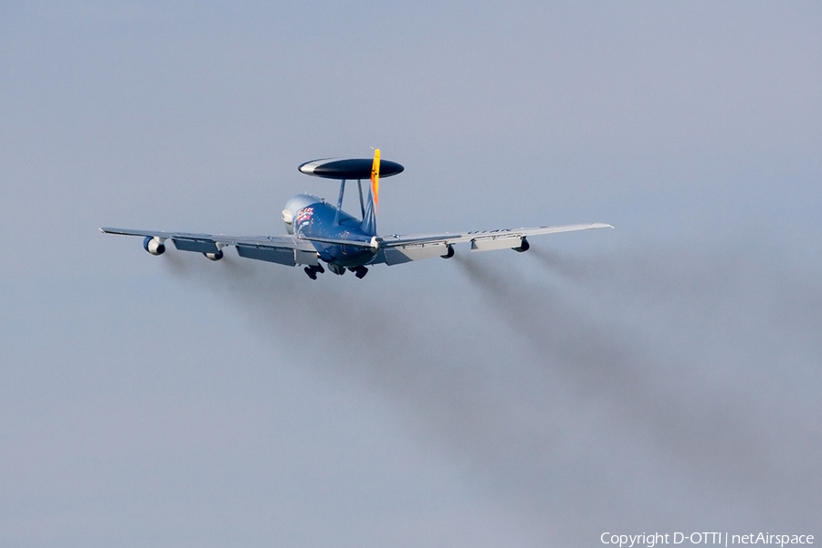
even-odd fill
[[[294,236],[226,236],[223,234],[195,234],[191,232],[163,232],[159,230],[132,230],[131,228],[100,228],[106,234],[145,237],[143,247],[159,255],[157,246],[170,239],[174,247],[182,251],[196,251],[208,254],[208,258],[221,258],[222,248],[234,246],[237,255],[245,258],[256,258],[268,262],[293,267],[295,265],[318,264],[317,250],[310,241]],[[156,241],[153,249],[149,248],[150,238]],[[164,248],[163,248],[164,250]]]

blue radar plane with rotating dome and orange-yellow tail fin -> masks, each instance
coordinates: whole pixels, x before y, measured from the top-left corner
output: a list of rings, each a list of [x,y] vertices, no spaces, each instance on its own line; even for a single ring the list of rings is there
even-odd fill
[[[325,263],[334,274],[342,276],[346,270],[362,279],[368,266],[398,265],[423,258],[454,257],[454,245],[469,243],[471,251],[513,249],[527,251],[531,244],[528,237],[587,230],[613,228],[604,223],[564,225],[560,227],[498,228],[460,232],[456,234],[377,235],[376,216],[380,177],[402,173],[399,163],[380,161],[380,150],[374,150],[369,158],[323,158],[301,163],[300,173],[341,181],[337,205],[331,205],[313,195],[295,195],[282,210],[288,236],[225,236],[195,234],[189,232],[162,232],[157,230],[133,230],[130,228],[102,227],[105,234],[143,237],[142,247],[152,255],[163,255],[165,241],[171,240],[181,251],[202,253],[211,260],[223,258],[223,248],[234,246],[237,255],[290,267],[303,266],[311,279],[325,272]],[[363,179],[371,179],[368,197],[364,200]],[[346,181],[357,180],[360,197],[360,213],[356,218],[342,211],[342,196]]]

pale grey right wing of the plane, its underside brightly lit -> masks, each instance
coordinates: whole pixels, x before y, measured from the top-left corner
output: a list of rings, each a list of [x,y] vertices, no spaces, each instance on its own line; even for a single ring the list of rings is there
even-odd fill
[[[527,237],[558,232],[573,232],[592,228],[613,228],[604,223],[588,225],[563,225],[560,227],[501,228],[459,234],[392,235],[380,241],[380,251],[371,264],[397,265],[412,260],[431,257],[451,257],[454,244],[471,244],[471,251],[490,251],[511,248],[525,251],[530,248]]]

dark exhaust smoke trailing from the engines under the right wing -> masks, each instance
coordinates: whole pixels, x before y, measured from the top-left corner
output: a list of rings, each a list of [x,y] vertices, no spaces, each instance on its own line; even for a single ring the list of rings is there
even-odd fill
[[[543,265],[561,268],[566,275],[573,272],[577,284],[588,294],[602,292],[604,284],[610,281],[611,287],[605,290],[609,300],[600,302],[599,306],[613,303],[615,296],[618,297],[616,300],[627,297],[628,302],[636,306],[637,296],[630,294],[633,291],[647,299],[648,294],[679,290],[685,297],[685,304],[703,299],[701,293],[708,293],[712,298],[711,293],[717,288],[704,283],[700,269],[707,263],[712,267],[709,269],[711,273],[732,274],[735,270],[728,269],[716,258],[704,256],[700,257],[697,269],[675,265],[679,278],[671,276],[668,269],[660,269],[654,261],[638,260],[637,257],[586,262],[545,253],[536,254],[536,257]],[[663,257],[665,259],[669,257]],[[722,386],[724,390],[713,393],[704,389],[690,390],[704,388],[701,379],[694,382],[689,371],[694,360],[699,362],[698,369],[705,365],[723,367],[722,362],[717,363],[711,356],[711,352],[727,352],[721,344],[713,342],[700,347],[699,342],[694,341],[690,344],[689,354],[679,357],[659,355],[659,351],[655,351],[659,342],[650,344],[643,339],[645,333],[628,331],[613,319],[607,321],[609,314],[604,310],[585,314],[585,307],[579,306],[579,302],[574,305],[558,290],[543,284],[522,279],[511,281],[509,273],[502,275],[490,265],[480,265],[479,261],[471,259],[460,258],[458,264],[483,290],[483,296],[511,326],[511,331],[529,342],[536,359],[559,371],[576,389],[606,403],[618,423],[638,427],[642,437],[648,437],[650,443],[663,450],[671,461],[680,461],[694,479],[706,485],[721,485],[723,490],[734,493],[764,515],[779,515],[788,522],[807,521],[813,511],[785,511],[786,501],[796,497],[817,501],[811,508],[818,509],[818,496],[812,494],[806,482],[808,473],[818,477],[817,469],[797,462],[802,464],[802,471],[799,471],[785,462],[785,454],[775,451],[779,446],[775,438],[784,433],[764,429],[753,416],[760,411],[755,409],[754,402],[739,394],[732,385]],[[607,274],[613,272],[618,275]],[[712,276],[714,283],[717,283],[716,278]],[[724,279],[719,285],[727,282],[738,283],[735,279]],[[817,294],[818,291],[817,286]],[[771,292],[775,300],[791,298],[790,295],[776,294],[773,289]],[[743,293],[734,299],[734,308],[740,308],[751,295]],[[677,299],[660,300],[656,303],[656,312],[668,313],[667,307],[682,304]],[[704,303],[699,303],[696,311],[702,312],[703,306]],[[679,313],[687,316],[690,311]],[[818,309],[810,321],[817,328],[822,327]],[[681,329],[682,323],[678,321],[677,327]],[[753,333],[754,336],[759,334]],[[726,341],[722,332],[718,333],[717,340],[725,346],[738,344]],[[814,353],[818,354],[818,350]],[[757,368],[771,366],[761,361],[754,365]],[[818,386],[818,374],[813,380]],[[763,411],[767,415],[767,409]],[[801,455],[818,451],[819,433],[818,424],[810,423],[803,435],[792,440],[800,461]]]

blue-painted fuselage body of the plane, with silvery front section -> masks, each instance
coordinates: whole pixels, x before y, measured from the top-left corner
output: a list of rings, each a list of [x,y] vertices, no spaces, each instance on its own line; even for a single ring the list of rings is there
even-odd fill
[[[295,236],[328,240],[348,240],[368,244],[374,234],[364,232],[362,221],[320,198],[310,195],[294,196],[286,205],[293,221],[290,229]],[[288,223],[287,223],[288,226]],[[377,253],[376,248],[345,246],[311,239],[320,258],[342,267],[359,267],[368,264]]]

